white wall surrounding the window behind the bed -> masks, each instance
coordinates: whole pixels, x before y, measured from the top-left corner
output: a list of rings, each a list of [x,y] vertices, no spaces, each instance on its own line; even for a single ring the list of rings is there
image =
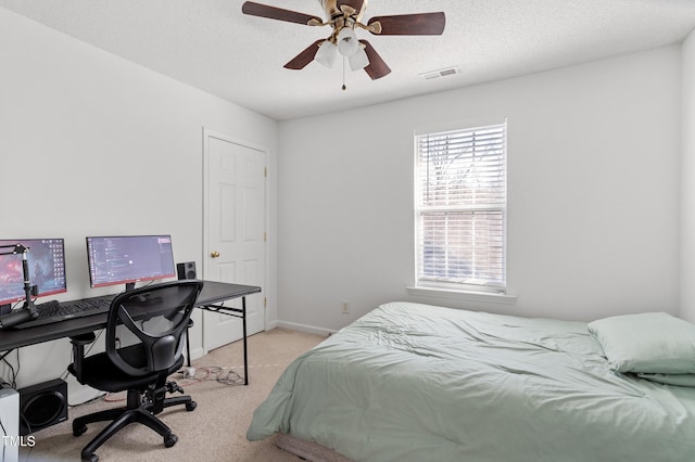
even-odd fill
[[[669,47],[280,123],[280,325],[340,329],[393,299],[577,320],[678,313],[679,107]],[[413,131],[481,116],[508,118],[518,299],[409,297]]]

